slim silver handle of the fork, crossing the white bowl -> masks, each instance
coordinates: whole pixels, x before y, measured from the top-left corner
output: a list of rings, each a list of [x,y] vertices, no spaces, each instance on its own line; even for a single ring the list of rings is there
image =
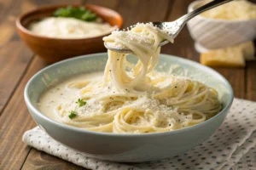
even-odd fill
[[[183,17],[180,18],[180,20],[183,20],[183,22],[188,22],[190,19],[192,19],[193,17],[195,17],[198,14],[201,14],[211,8],[217,7],[218,5],[224,4],[224,3],[229,3],[232,0],[213,0],[210,3],[207,3],[203,6],[201,6],[200,8],[196,8],[195,10],[193,10],[192,12],[183,15]]]

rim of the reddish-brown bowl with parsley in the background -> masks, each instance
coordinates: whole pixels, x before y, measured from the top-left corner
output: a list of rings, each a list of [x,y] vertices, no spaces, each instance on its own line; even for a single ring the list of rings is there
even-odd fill
[[[106,8],[100,5],[94,5],[94,4],[58,4],[58,5],[45,5],[42,7],[38,7],[38,8],[34,8],[32,10],[27,11],[25,14],[20,14],[20,16],[15,20],[15,25],[16,28],[24,33],[26,33],[27,35],[31,36],[31,37],[38,37],[38,38],[42,38],[42,39],[48,39],[48,40],[61,40],[61,41],[65,41],[65,40],[69,40],[69,41],[80,41],[80,40],[92,40],[95,38],[99,38],[99,37],[104,37],[107,36],[108,34],[111,33],[111,31],[109,33],[105,33],[102,34],[100,36],[96,36],[96,37],[78,37],[78,38],[61,38],[61,37],[46,37],[46,36],[41,36],[38,35],[30,30],[28,30],[25,26],[23,26],[21,24],[21,20],[25,19],[27,17],[27,15],[32,14],[32,13],[36,13],[38,11],[44,11],[46,9],[51,9],[51,8],[63,8],[63,7],[67,7],[67,6],[73,6],[73,7],[92,7],[92,8],[102,8],[102,9],[106,9],[108,11],[111,11],[113,14],[116,14],[116,16],[118,17],[118,19],[120,20],[120,24],[113,26],[115,28],[120,29],[123,24],[124,24],[124,20],[123,17],[121,16],[121,14],[119,14],[117,11],[111,9],[111,8]],[[41,12],[42,13],[42,12]],[[108,23],[109,24],[109,23]],[[114,30],[114,29],[113,29]]]

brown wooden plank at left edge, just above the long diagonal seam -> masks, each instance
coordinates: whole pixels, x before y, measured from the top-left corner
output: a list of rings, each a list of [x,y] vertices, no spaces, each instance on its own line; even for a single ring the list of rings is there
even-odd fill
[[[0,38],[1,39],[1,38]],[[15,49],[15,50],[14,50]],[[0,115],[23,77],[32,53],[20,41],[7,42],[0,50]]]

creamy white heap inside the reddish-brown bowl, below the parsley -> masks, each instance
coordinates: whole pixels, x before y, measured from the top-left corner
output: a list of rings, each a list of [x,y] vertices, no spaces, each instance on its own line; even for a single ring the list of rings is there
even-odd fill
[[[113,31],[115,27],[108,23],[86,22],[73,18],[48,17],[33,22],[29,30],[46,37],[84,38],[98,37]]]

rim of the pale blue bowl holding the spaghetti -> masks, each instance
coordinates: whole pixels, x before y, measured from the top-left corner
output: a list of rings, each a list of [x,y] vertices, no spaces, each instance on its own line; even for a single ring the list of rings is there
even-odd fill
[[[61,60],[61,61],[59,61],[59,62],[57,62],[53,65],[48,65],[44,69],[38,71],[26,83],[26,88],[24,90],[24,99],[25,99],[27,108],[30,111],[32,111],[33,114],[36,114],[37,116],[39,116],[40,119],[44,119],[44,121],[49,122],[51,124],[54,124],[55,126],[61,127],[62,129],[65,129],[65,130],[72,130],[72,131],[76,131],[78,133],[89,133],[90,135],[102,135],[102,136],[108,136],[108,137],[143,138],[143,137],[153,137],[153,136],[163,136],[163,135],[165,136],[165,135],[172,134],[172,133],[182,133],[182,132],[188,131],[188,130],[193,129],[193,128],[202,127],[203,125],[205,125],[207,123],[213,122],[215,119],[217,119],[218,116],[221,116],[225,112],[229,111],[230,106],[232,105],[232,102],[233,102],[233,99],[234,99],[233,88],[231,87],[230,82],[228,80],[226,80],[226,78],[224,78],[224,76],[222,76],[220,73],[218,73],[218,71],[214,71],[212,68],[207,67],[205,65],[201,65],[201,64],[199,64],[199,63],[197,63],[193,60],[183,59],[183,58],[180,58],[180,57],[177,57],[177,56],[174,56],[174,55],[170,55],[170,54],[160,54],[160,55],[163,56],[163,57],[168,57],[168,58],[172,57],[174,59],[185,62],[189,65],[195,65],[196,67],[200,67],[205,71],[208,71],[210,73],[218,75],[218,77],[220,79],[222,79],[222,81],[224,81],[224,83],[227,85],[227,88],[228,88],[228,91],[229,91],[229,94],[230,94],[230,99],[229,99],[227,105],[224,107],[224,109],[222,111],[218,112],[218,114],[216,116],[213,116],[212,118],[208,119],[205,122],[201,122],[199,124],[196,124],[196,125],[193,125],[193,126],[190,126],[190,127],[183,127],[183,128],[177,129],[177,130],[167,131],[167,132],[163,132],[163,133],[102,133],[102,132],[90,131],[90,130],[87,130],[87,129],[84,129],[84,128],[69,126],[69,125],[66,125],[66,124],[61,123],[61,122],[56,122],[53,119],[49,118],[48,116],[45,116],[44,113],[42,113],[41,111],[38,111],[38,109],[32,105],[32,102],[29,98],[28,89],[31,86],[34,79],[36,79],[36,77],[41,75],[44,71],[48,70],[51,67],[55,67],[57,65],[62,65],[63,63],[68,63],[68,62],[71,62],[73,60],[77,60],[77,59],[79,60],[79,59],[83,59],[83,58],[91,58],[91,57],[99,56],[99,55],[108,55],[108,53],[86,54],[86,55],[81,55],[81,56],[74,57],[74,58],[71,58],[71,59],[64,59],[64,60]],[[31,112],[30,112],[30,114],[32,115]]]

